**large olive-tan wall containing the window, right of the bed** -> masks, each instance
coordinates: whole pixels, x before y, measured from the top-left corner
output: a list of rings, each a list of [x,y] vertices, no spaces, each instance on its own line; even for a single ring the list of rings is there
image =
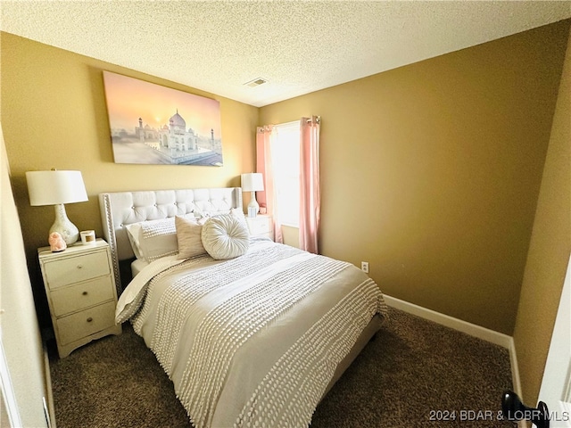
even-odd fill
[[[321,252],[512,334],[569,23],[261,108],[322,119]]]

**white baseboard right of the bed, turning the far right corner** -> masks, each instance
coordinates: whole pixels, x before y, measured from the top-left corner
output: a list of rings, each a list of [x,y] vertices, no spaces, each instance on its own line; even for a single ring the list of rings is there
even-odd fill
[[[426,309],[422,306],[415,305],[405,300],[396,299],[395,297],[385,296],[385,302],[394,309],[400,309],[417,317],[433,321],[436,324],[444,325],[470,336],[482,339],[483,341],[499,345],[509,350],[509,362],[511,366],[511,378],[513,380],[514,392],[521,397],[521,383],[519,382],[519,369],[517,368],[516,347],[513,337],[508,334],[494,332],[489,328],[480,325],[471,324],[461,319],[441,314],[432,309]]]

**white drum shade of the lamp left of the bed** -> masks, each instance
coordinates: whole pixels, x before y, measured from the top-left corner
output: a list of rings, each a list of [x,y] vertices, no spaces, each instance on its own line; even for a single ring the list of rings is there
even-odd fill
[[[87,201],[81,171],[28,171],[26,181],[32,206]]]

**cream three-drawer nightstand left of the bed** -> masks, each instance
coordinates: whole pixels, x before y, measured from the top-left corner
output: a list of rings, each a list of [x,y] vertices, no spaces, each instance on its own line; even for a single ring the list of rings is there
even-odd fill
[[[75,244],[65,251],[37,250],[60,358],[107,334],[115,325],[117,290],[109,244]]]

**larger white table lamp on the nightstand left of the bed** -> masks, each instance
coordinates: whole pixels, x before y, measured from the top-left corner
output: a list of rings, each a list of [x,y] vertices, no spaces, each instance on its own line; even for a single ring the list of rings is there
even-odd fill
[[[31,206],[54,205],[55,221],[50,227],[50,235],[57,232],[67,245],[75,243],[79,230],[70,222],[63,204],[87,201],[81,171],[28,171],[26,181]]]

